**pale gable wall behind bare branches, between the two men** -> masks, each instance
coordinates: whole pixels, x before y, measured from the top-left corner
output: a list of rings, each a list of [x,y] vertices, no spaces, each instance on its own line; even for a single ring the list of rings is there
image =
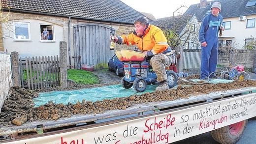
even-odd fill
[[[195,31],[193,31],[192,29],[193,24],[195,24]],[[198,40],[199,28],[200,28],[200,24],[197,21],[196,16],[193,15],[190,21],[188,22],[188,25],[180,33],[180,36],[183,35],[181,38],[182,45],[184,45],[184,43],[186,42],[186,39],[189,37],[189,39],[187,40],[189,44],[188,43],[185,44],[186,49],[197,49],[197,43],[199,44],[199,40]],[[198,46],[198,48],[200,49],[201,47]]]

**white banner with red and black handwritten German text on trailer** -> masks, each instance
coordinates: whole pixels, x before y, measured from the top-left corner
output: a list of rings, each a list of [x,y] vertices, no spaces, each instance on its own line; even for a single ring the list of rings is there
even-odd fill
[[[256,94],[7,144],[169,144],[256,116]]]

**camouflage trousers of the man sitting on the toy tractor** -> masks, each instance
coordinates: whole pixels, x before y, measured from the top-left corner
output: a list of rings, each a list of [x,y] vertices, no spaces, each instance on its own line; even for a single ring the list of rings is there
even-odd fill
[[[153,56],[150,59],[150,65],[153,68],[153,71],[156,72],[157,75],[157,81],[162,82],[164,80],[167,80],[167,75],[165,72],[165,67],[169,67],[172,63],[171,56],[166,56],[164,54],[158,54]]]

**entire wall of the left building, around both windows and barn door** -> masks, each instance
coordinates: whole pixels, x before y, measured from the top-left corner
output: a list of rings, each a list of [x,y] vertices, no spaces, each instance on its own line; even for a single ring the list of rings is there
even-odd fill
[[[6,14],[6,13],[5,13]],[[30,23],[31,29],[31,41],[15,41],[13,39],[14,34],[12,31],[8,32],[7,38],[3,40],[4,51],[8,52],[17,51],[20,57],[29,56],[52,56],[59,55],[59,45],[60,41],[66,41],[68,44],[68,17],[57,17],[39,14],[27,14],[27,13],[10,13],[9,22],[28,22]],[[87,21],[87,20],[77,20],[72,19],[70,22],[70,57],[71,66],[74,65],[74,45],[73,45],[73,27],[78,24],[101,24],[111,27],[110,23]],[[55,41],[54,42],[41,42],[40,41],[40,24],[54,25],[55,29]],[[134,30],[133,25],[115,24],[112,23],[112,28],[116,30],[116,35],[126,35]],[[2,30],[6,31],[6,28],[2,24]],[[110,34],[109,34],[110,35]],[[134,46],[133,46],[134,47]],[[132,49],[132,46],[118,45],[116,44],[116,50],[120,49]],[[68,51],[68,49],[67,49]],[[67,52],[68,54],[68,52]],[[67,56],[68,58],[68,56]],[[69,58],[68,58],[69,59]],[[69,60],[67,60],[69,65]]]

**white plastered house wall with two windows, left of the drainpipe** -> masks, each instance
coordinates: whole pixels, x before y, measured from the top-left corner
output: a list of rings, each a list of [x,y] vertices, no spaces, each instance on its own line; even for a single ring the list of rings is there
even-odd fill
[[[32,57],[32,56],[53,56],[59,55],[59,45],[60,41],[64,41],[66,37],[64,32],[66,32],[66,20],[63,18],[56,19],[52,16],[40,16],[33,14],[21,14],[21,13],[11,13],[9,23],[14,22],[26,22],[30,23],[30,41],[17,41],[14,39],[14,28],[7,30],[5,32],[8,36],[3,40],[4,50],[8,52],[17,51],[20,57]],[[54,41],[41,41],[41,31],[40,24],[54,25]],[[5,25],[2,24],[2,30],[6,29]]]

